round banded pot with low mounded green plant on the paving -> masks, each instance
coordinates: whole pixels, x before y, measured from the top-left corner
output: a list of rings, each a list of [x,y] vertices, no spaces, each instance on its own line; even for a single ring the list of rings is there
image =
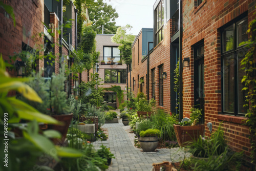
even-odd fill
[[[158,129],[148,129],[140,132],[140,146],[144,152],[154,152],[157,148],[160,137]]]

